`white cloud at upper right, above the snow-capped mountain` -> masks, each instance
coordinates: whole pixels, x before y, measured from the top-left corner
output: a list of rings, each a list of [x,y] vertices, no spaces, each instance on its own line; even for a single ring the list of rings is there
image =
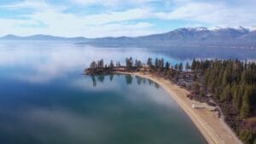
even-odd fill
[[[212,26],[252,26],[256,9],[229,8],[224,3],[188,3],[169,13],[156,13],[160,19],[193,20]]]

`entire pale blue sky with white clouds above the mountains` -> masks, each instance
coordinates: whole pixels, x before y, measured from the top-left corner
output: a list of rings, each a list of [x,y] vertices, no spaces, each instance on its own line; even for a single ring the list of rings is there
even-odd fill
[[[1,0],[0,36],[137,37],[181,27],[256,27],[255,0]]]

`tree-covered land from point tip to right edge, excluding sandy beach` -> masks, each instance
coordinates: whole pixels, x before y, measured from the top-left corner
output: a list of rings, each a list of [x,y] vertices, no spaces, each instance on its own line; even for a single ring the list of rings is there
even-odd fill
[[[88,75],[111,72],[144,72],[169,79],[188,89],[190,99],[217,105],[224,120],[245,144],[256,144],[256,63],[241,60],[192,60],[172,65],[161,59],[125,59],[104,64],[92,61],[85,70]],[[219,113],[220,114],[220,113]]]

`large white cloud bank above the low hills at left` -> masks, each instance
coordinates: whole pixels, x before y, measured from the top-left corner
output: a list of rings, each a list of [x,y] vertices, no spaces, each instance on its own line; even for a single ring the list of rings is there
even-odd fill
[[[17,8],[19,4],[13,4]],[[27,7],[38,4],[25,3]],[[4,24],[1,35],[14,33],[18,35],[32,35],[35,33],[51,34],[57,36],[75,37],[103,37],[103,36],[137,36],[152,33],[150,24],[138,22],[127,24],[122,21],[144,19],[149,16],[148,9],[128,9],[120,12],[103,14],[90,14],[79,16],[76,14],[64,14],[60,9],[44,5],[46,10],[39,10],[33,14],[26,14],[26,20],[0,19]],[[43,23],[43,27],[37,27]],[[36,26],[36,27],[30,27]],[[123,32],[122,32],[123,31]]]

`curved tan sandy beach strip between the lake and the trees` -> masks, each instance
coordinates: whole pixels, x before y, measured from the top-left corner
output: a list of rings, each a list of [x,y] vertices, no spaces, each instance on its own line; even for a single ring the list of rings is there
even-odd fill
[[[166,90],[177,102],[179,107],[189,116],[196,128],[201,132],[209,144],[242,144],[230,127],[224,123],[222,118],[218,118],[217,112],[210,112],[207,109],[192,108],[192,104],[202,104],[191,101],[187,98],[189,91],[180,88],[177,84],[172,84],[169,80],[159,78],[150,74],[140,72],[114,72],[119,74],[131,74],[138,77],[147,78]]]

